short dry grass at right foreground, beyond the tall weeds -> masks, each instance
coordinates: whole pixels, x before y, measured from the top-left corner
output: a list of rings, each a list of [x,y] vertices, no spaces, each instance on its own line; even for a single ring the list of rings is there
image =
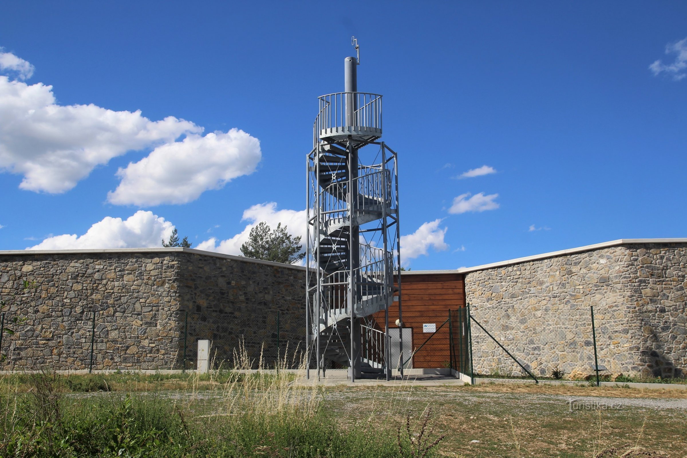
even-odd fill
[[[546,396],[529,396],[532,394]],[[346,422],[367,416],[365,412],[372,405],[385,406],[370,415],[370,422],[379,427],[392,411],[406,411],[418,418],[429,406],[436,433],[445,435],[439,451],[444,456],[687,457],[684,409],[570,411],[567,400],[574,396],[647,402],[685,398],[682,391],[596,387],[337,386],[326,391],[325,405]]]

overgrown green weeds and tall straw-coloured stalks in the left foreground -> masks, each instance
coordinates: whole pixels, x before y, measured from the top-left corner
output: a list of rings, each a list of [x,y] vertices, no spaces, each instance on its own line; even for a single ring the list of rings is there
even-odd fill
[[[110,391],[111,376],[8,378],[0,385],[0,457],[420,456],[409,455],[414,436],[396,437],[396,424],[370,428],[326,415],[321,388],[293,383],[285,370],[293,362],[247,374],[254,361],[245,350],[235,360],[229,371],[186,374],[189,387],[179,396]],[[210,402],[198,389],[205,382],[217,387]],[[427,420],[423,431],[432,444]],[[423,457],[434,451],[421,450]]]

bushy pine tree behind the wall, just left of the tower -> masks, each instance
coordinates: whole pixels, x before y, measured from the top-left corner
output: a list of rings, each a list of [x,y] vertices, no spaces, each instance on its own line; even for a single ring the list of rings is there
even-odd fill
[[[260,222],[251,229],[248,237],[248,241],[241,245],[241,253],[245,257],[284,264],[293,264],[305,257],[305,253],[300,253],[303,248],[300,236],[292,238],[281,222],[274,230],[266,222]]]

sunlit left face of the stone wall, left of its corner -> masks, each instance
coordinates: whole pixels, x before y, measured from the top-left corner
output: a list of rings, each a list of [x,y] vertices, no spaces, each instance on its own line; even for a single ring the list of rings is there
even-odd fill
[[[2,255],[2,369],[169,369],[179,353],[177,253]],[[35,282],[23,290],[23,281]],[[12,299],[12,295],[16,295]],[[12,323],[14,319],[17,323]]]

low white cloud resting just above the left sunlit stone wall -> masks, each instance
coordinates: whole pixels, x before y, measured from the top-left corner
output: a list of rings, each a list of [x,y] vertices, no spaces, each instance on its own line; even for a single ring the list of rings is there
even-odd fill
[[[63,234],[46,238],[27,250],[152,248],[172,235],[174,225],[152,211],[139,210],[126,220],[106,216],[82,236]]]

